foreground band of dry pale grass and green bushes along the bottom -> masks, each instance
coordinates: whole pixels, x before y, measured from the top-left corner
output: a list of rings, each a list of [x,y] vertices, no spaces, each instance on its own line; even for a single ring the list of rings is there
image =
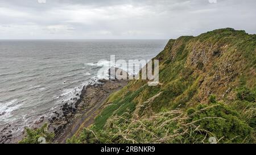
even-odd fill
[[[253,128],[222,103],[160,112],[141,120],[112,116],[100,130],[84,129],[68,143],[253,143]]]

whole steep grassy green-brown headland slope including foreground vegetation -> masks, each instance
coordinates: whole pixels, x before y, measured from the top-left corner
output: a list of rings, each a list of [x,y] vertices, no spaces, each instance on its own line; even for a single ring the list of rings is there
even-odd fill
[[[255,143],[256,35],[182,36],[154,59],[158,86],[130,81],[69,143]]]

